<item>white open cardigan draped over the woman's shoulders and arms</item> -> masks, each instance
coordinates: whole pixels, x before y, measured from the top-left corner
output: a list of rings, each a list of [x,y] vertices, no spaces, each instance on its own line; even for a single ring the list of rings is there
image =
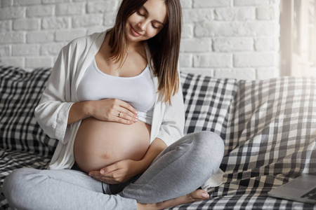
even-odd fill
[[[74,139],[81,120],[67,125],[70,107],[77,99],[77,88],[93,57],[100,49],[107,31],[76,38],[60,51],[53,66],[41,101],[35,109],[35,117],[44,132],[58,139],[58,146],[48,169],[70,169],[74,165]],[[150,52],[146,45],[147,61],[152,70]],[[158,80],[153,76],[157,90]],[[181,86],[171,98],[172,106],[160,100],[157,93],[154,103],[150,144],[155,138],[162,139],[167,146],[183,137],[185,123],[183,94]]]

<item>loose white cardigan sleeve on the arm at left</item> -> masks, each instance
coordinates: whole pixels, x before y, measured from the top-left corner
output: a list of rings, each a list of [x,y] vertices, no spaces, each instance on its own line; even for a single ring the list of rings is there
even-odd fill
[[[53,66],[51,76],[48,78],[46,88],[35,108],[35,118],[44,132],[63,144],[67,143],[67,120],[70,107],[70,45],[60,51],[58,59]]]

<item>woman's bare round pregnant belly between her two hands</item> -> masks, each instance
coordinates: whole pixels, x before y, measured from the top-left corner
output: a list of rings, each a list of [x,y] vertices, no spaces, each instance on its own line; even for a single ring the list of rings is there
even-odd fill
[[[119,160],[141,160],[150,146],[150,125],[82,120],[74,141],[74,160],[88,173]]]

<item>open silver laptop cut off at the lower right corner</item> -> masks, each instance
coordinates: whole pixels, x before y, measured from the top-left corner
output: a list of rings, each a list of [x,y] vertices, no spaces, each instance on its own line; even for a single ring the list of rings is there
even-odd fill
[[[316,204],[316,176],[302,174],[298,178],[271,190],[269,196]]]

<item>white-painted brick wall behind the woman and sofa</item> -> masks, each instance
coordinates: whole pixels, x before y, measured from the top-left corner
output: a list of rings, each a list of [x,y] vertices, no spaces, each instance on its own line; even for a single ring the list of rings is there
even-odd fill
[[[0,64],[53,66],[73,38],[114,24],[121,0],[0,0]],[[182,71],[279,76],[279,0],[180,0]]]

